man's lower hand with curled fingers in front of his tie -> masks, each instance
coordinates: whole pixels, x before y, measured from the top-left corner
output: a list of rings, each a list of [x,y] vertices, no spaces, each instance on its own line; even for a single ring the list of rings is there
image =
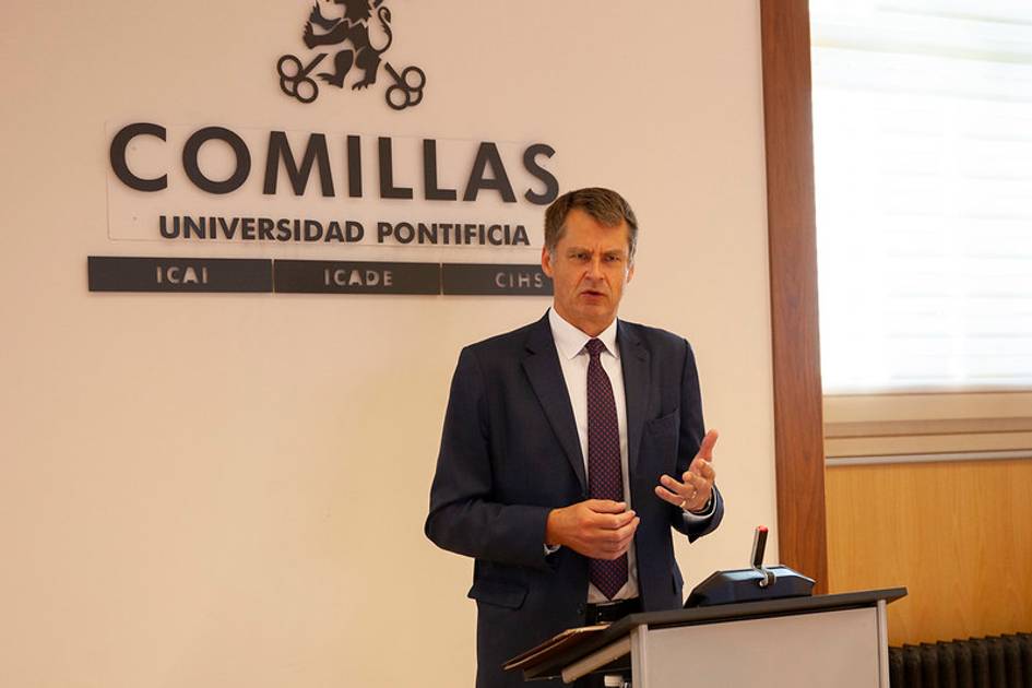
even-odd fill
[[[589,499],[548,513],[545,544],[591,559],[616,559],[627,553],[640,522],[622,501]]]

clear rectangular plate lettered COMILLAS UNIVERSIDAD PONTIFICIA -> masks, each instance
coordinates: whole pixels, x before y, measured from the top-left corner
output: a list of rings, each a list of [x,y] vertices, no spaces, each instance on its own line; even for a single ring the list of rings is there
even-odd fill
[[[530,248],[559,193],[539,142],[133,122],[108,153],[112,239]]]

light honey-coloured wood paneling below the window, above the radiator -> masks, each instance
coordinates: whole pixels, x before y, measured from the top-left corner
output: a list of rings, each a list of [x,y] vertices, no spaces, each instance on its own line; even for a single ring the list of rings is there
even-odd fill
[[[889,640],[1032,630],[1032,461],[828,470],[831,592],[905,585]]]

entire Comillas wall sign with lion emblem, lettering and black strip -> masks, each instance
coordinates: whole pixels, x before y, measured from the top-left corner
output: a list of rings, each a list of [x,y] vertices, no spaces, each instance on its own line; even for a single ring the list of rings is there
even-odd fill
[[[384,0],[297,8],[297,43],[276,52],[272,95],[304,104],[319,124],[154,118],[107,128],[108,238],[134,249],[218,244],[241,262],[91,258],[91,290],[550,294],[541,268],[524,263],[537,259],[544,207],[559,194],[555,147],[505,132],[470,140],[343,127],[345,96],[373,91],[418,116],[427,73],[388,59],[399,17]],[[322,260],[295,260],[301,247]],[[258,261],[266,281],[230,278],[254,249],[285,254]]]

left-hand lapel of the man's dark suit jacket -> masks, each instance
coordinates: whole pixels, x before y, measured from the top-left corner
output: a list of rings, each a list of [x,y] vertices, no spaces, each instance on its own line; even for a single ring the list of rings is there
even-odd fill
[[[573,406],[566,390],[566,380],[562,368],[559,366],[559,354],[556,352],[556,342],[551,336],[548,324],[548,315],[538,320],[531,329],[526,339],[527,356],[523,359],[523,369],[531,380],[531,387],[537,394],[545,416],[551,425],[559,443],[570,462],[570,466],[581,483],[581,488],[588,489],[588,478],[584,475],[584,456],[581,454],[581,443],[577,438],[577,422],[573,419]]]

